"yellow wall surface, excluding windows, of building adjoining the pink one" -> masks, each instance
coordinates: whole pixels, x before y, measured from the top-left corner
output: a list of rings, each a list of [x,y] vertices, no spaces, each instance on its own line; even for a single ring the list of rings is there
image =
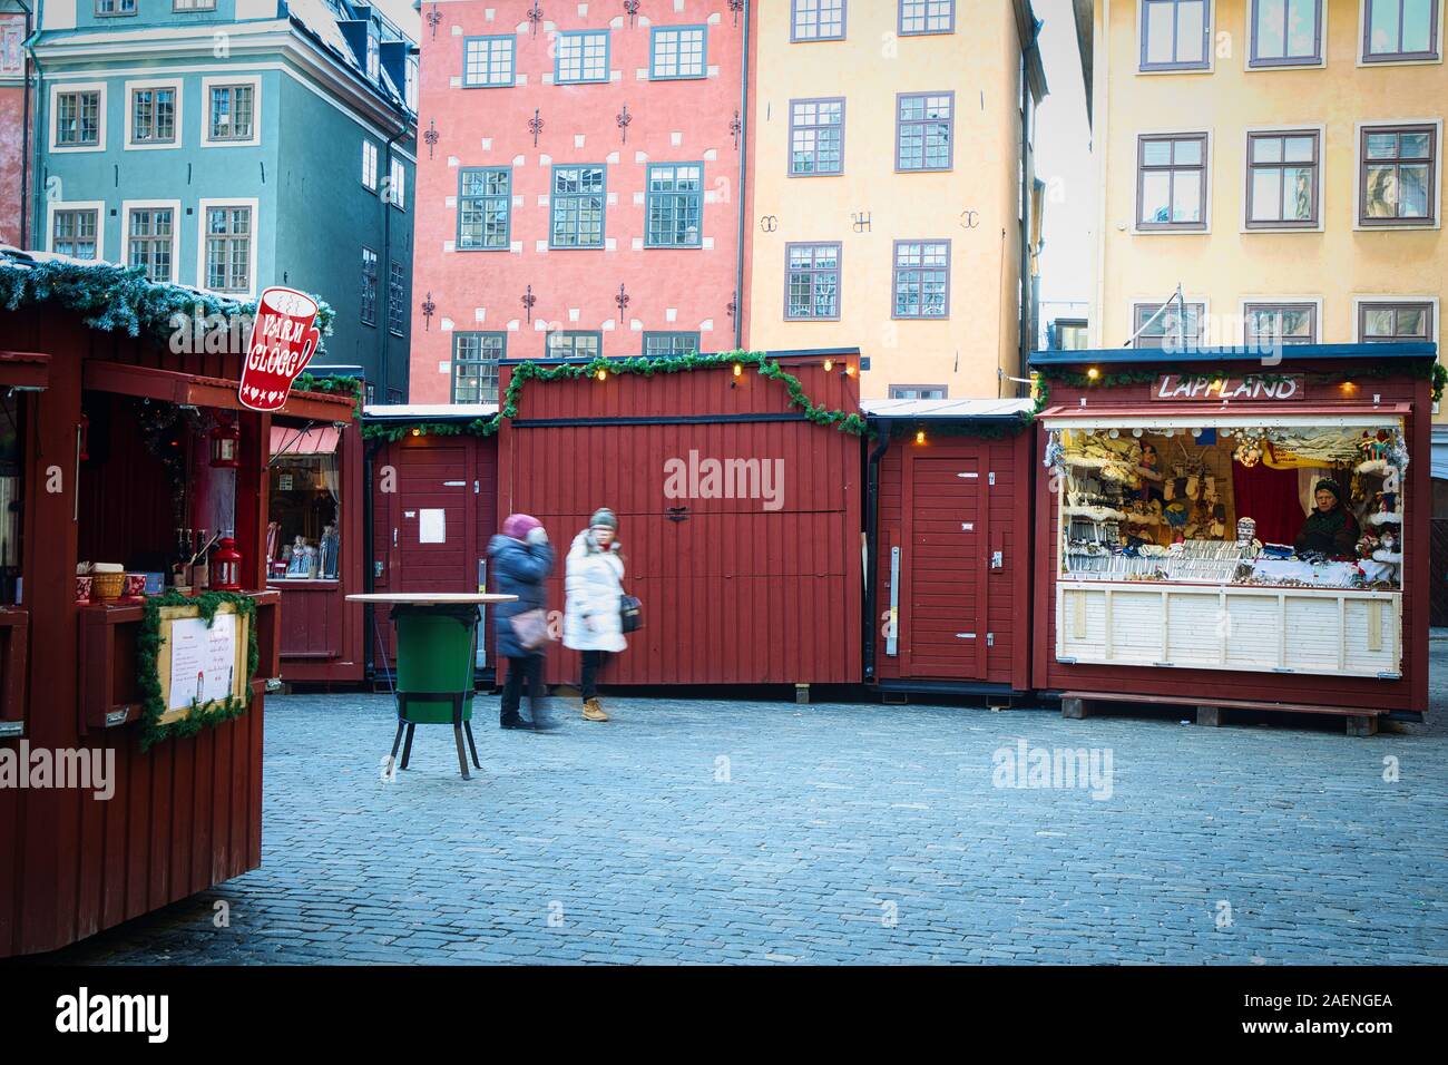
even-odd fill
[[[750,317],[754,349],[859,346],[866,397],[891,384],[944,384],[948,396],[1016,394],[1019,310],[1018,67],[1012,4],[957,3],[956,32],[896,38],[893,0],[849,4],[847,39],[791,43],[789,3],[756,6]],[[954,91],[953,170],[895,172],[896,93]],[[789,101],[846,99],[844,174],[788,177]],[[870,216],[856,232],[853,214]],[[964,212],[976,212],[967,229]],[[763,232],[773,216],[778,229]],[[893,320],[898,239],[948,239],[946,320]],[[838,241],[838,322],[786,322],[785,245]],[[959,361],[959,369],[957,369]]]

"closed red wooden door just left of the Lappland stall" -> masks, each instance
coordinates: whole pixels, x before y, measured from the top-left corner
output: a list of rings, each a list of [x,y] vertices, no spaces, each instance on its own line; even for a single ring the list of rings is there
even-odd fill
[[[986,481],[979,458],[906,452],[899,640],[911,675],[985,680]]]

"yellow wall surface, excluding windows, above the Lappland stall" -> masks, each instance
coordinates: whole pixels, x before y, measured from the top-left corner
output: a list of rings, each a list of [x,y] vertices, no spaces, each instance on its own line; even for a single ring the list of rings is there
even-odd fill
[[[1441,191],[1439,227],[1354,229],[1358,123],[1442,122],[1448,112],[1448,68],[1442,62],[1360,67],[1363,3],[1326,0],[1325,67],[1250,71],[1251,0],[1216,0],[1211,72],[1138,74],[1138,6],[1135,0],[1096,0],[1093,97],[1102,243],[1090,316],[1095,345],[1124,343],[1132,333],[1129,306],[1160,303],[1179,281],[1187,300],[1206,300],[1213,329],[1208,339],[1221,343],[1242,341],[1244,301],[1321,300],[1318,339],[1351,343],[1358,339],[1357,297],[1442,293],[1448,243],[1441,229]],[[1242,232],[1247,132],[1270,126],[1323,130],[1322,232]],[[1200,130],[1211,135],[1211,232],[1134,233],[1137,135]],[[1442,164],[1439,132],[1439,178]],[[1434,316],[1432,339],[1444,336],[1442,310],[1439,306]]]

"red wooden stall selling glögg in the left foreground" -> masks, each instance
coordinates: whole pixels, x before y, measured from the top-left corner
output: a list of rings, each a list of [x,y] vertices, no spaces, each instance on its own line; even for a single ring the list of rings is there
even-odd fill
[[[243,310],[104,264],[0,259],[0,772],[30,764],[0,788],[0,956],[261,864],[272,417],[237,400],[243,327],[229,349],[210,325],[174,332],[194,306]],[[292,394],[284,414],[336,407]],[[193,558],[216,533],[235,548]]]

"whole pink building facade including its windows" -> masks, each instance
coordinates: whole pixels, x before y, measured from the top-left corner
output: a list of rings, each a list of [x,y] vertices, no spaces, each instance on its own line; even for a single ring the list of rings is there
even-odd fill
[[[736,346],[744,4],[423,6],[411,403]]]

